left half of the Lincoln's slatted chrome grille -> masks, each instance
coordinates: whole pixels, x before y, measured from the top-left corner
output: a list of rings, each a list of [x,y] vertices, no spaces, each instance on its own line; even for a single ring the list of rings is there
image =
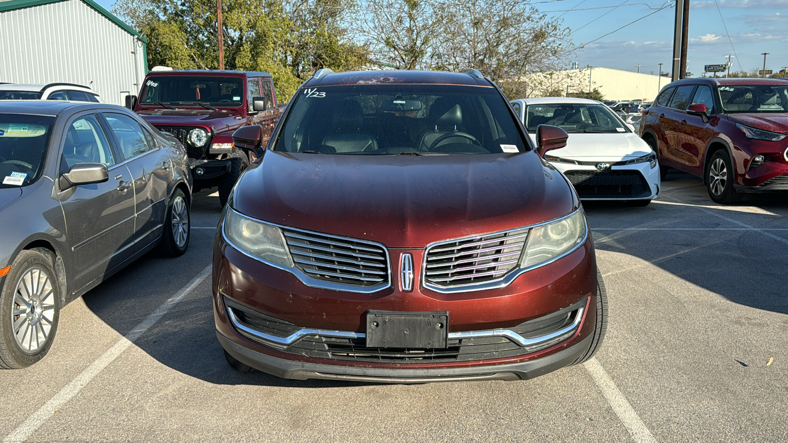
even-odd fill
[[[362,288],[388,284],[388,253],[381,244],[284,229],[296,267],[318,280]]]

